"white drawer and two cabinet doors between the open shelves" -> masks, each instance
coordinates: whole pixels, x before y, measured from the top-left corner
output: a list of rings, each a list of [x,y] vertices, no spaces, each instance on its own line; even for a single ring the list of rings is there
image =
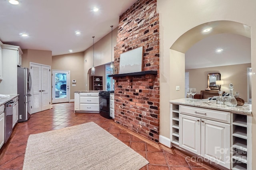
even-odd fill
[[[230,122],[230,112],[181,105],[179,111],[179,146],[230,169],[231,125],[219,122]]]

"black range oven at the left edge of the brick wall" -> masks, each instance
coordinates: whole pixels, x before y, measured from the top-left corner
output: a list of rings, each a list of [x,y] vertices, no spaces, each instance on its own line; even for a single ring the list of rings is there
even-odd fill
[[[106,117],[107,119],[112,119],[110,117],[110,107],[109,107],[109,102],[110,102],[110,93],[114,93],[114,91],[102,91],[99,92],[100,96],[100,115],[103,117]]]

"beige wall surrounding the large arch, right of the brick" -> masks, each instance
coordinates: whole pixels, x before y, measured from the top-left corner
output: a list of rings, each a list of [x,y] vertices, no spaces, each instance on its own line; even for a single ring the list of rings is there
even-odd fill
[[[221,5],[220,5],[221,4]],[[186,31],[210,21],[229,20],[243,23],[251,27],[251,57],[252,71],[256,70],[256,1],[255,0],[158,0],[157,8],[160,16],[160,122],[163,119],[170,119],[169,100],[176,98],[173,96],[175,89],[170,80],[170,74],[175,72],[170,67],[170,47]],[[245,12],[246,11],[246,12]],[[177,80],[184,72],[176,72]],[[172,77],[173,79],[173,77]],[[175,82],[184,84],[184,80]],[[256,76],[252,76],[252,87],[256,84]],[[169,95],[166,95],[169,94]],[[181,97],[183,97],[182,95]],[[252,100],[256,100],[256,93],[252,88]],[[252,102],[252,150],[256,148],[256,103]],[[170,121],[169,123],[160,123],[160,135],[170,138]],[[256,153],[253,153],[252,167],[256,167]]]

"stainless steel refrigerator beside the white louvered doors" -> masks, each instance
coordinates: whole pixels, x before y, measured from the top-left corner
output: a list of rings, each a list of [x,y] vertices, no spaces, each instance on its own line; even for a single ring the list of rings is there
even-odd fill
[[[30,90],[32,86],[29,68],[18,67],[18,94],[19,94],[19,117],[18,122],[28,121],[30,114],[28,106],[30,106]]]

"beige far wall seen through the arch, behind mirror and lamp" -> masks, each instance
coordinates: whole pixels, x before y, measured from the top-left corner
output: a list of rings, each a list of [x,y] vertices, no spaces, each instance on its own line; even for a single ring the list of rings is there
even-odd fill
[[[247,102],[247,67],[251,67],[251,63],[196,68],[185,71],[189,72],[189,86],[196,88],[196,94],[200,94],[200,90],[204,90],[207,87],[208,74],[220,73],[221,80],[224,80],[224,85],[221,85],[220,90],[229,92],[229,84],[232,83],[234,85],[233,92],[239,92],[239,97]]]

